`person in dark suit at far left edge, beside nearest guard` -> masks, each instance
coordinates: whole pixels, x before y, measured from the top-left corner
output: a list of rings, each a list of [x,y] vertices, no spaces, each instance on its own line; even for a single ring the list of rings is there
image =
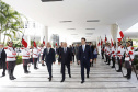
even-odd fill
[[[0,43],[0,64],[3,68],[3,72],[2,72],[2,77],[5,76],[5,58],[7,58],[7,54],[4,51],[4,48],[3,48],[3,44]]]

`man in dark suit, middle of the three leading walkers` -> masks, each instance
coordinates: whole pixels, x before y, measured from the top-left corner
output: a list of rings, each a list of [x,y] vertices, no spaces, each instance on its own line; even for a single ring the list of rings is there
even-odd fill
[[[61,57],[61,74],[62,74],[61,82],[64,82],[65,81],[65,66],[67,66],[68,68],[69,78],[71,78],[70,62],[72,64],[72,54],[71,54],[71,49],[67,47],[67,43],[64,43],[64,47],[60,51],[60,57]]]

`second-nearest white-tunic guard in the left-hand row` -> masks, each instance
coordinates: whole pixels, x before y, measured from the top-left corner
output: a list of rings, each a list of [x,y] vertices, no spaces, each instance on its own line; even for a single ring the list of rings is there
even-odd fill
[[[30,64],[30,49],[27,47],[22,47],[21,49],[24,73],[30,73],[27,70],[27,65]]]

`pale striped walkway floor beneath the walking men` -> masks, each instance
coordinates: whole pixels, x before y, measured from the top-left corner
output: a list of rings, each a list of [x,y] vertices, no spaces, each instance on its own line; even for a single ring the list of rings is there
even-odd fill
[[[80,67],[71,65],[71,76],[66,74],[66,81],[60,83],[60,65],[53,66],[53,81],[48,81],[46,67],[38,65],[39,69],[34,70],[31,66],[31,73],[24,74],[22,65],[15,67],[14,76],[18,78],[10,81],[7,77],[0,78],[0,92],[137,92],[138,81],[133,72],[133,79],[123,78],[115,69],[104,64],[104,60],[97,59],[94,67],[91,68],[90,78],[85,78],[85,83],[81,84]],[[117,65],[116,65],[117,67]],[[126,74],[126,69],[123,69]],[[1,73],[1,70],[0,70]]]

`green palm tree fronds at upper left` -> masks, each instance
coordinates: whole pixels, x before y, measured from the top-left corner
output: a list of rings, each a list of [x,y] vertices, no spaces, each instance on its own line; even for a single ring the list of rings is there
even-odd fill
[[[9,4],[0,0],[0,38],[1,33],[4,33],[3,44],[5,36],[12,38],[12,34],[16,35],[18,32],[22,33],[23,21],[18,11],[13,10]]]

